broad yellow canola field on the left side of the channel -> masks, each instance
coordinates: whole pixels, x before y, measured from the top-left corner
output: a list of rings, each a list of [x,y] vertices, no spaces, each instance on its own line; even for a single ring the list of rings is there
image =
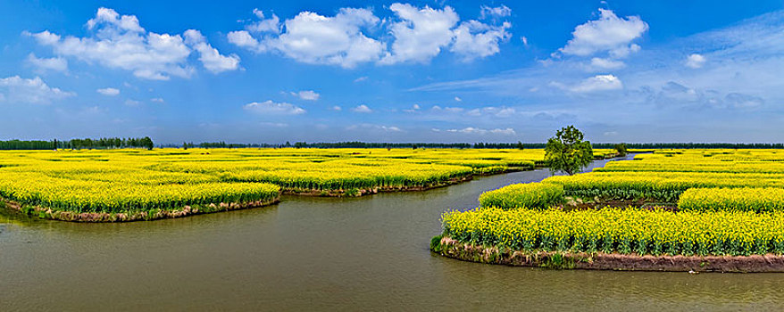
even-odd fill
[[[612,154],[596,151],[597,158]],[[425,189],[475,175],[534,168],[543,159],[542,150],[3,151],[0,199],[42,218],[169,218],[183,214],[167,211],[184,208],[204,213],[229,209],[229,204],[268,204],[280,193],[360,195]]]

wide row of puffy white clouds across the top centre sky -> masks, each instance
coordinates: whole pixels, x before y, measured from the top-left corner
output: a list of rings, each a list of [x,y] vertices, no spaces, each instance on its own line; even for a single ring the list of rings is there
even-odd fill
[[[277,52],[297,62],[354,68],[373,62],[430,62],[447,49],[471,61],[498,53],[499,44],[512,36],[509,22],[459,23],[459,16],[449,6],[435,9],[395,3],[389,10],[395,15],[384,21],[369,9],[341,8],[335,16],[304,11],[283,22],[274,14],[265,19],[263,12],[254,10],[259,21],[229,32],[228,39],[254,53]],[[482,12],[483,18],[494,16],[495,23],[511,10],[484,7]],[[369,37],[381,27],[388,36]]]

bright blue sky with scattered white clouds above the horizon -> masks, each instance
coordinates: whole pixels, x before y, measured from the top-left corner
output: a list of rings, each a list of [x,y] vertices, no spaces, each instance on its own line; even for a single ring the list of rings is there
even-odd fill
[[[781,1],[0,3],[0,139],[781,142]]]

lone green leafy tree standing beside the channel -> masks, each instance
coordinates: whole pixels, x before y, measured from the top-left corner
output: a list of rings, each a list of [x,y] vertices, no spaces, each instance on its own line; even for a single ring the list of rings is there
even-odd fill
[[[563,171],[571,176],[594,160],[591,143],[582,139],[582,132],[569,126],[556,131],[555,137],[547,140],[545,162],[550,172],[555,174],[557,171]]]

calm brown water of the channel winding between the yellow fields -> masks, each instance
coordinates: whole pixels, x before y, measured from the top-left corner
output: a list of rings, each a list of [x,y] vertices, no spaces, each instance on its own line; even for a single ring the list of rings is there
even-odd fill
[[[602,166],[598,161],[594,166]],[[181,219],[0,215],[0,310],[782,310],[784,275],[555,271],[430,253],[446,209],[546,170]]]

